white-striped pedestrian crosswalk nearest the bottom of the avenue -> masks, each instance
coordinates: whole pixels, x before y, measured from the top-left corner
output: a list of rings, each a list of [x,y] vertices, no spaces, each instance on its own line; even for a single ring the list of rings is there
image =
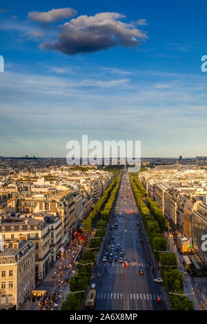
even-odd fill
[[[134,299],[140,301],[157,301],[157,297],[161,299],[159,294],[140,294],[140,293],[121,293],[121,292],[98,292],[97,299]]]

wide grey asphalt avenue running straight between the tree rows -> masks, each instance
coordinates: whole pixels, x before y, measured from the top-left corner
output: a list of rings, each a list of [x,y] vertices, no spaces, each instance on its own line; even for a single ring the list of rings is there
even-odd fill
[[[128,210],[136,213],[127,214]],[[119,214],[121,213],[121,214]],[[137,221],[141,225],[141,232],[138,231]],[[117,205],[110,223],[118,223],[118,228],[110,230],[103,242],[100,261],[93,272],[91,283],[96,283],[97,297],[95,310],[166,310],[163,287],[161,283],[154,283],[157,277],[155,270],[151,270],[149,261],[155,261],[147,255],[148,247],[144,247],[146,241],[144,225],[138,213],[135,200],[130,188],[128,173],[124,171]],[[124,230],[127,230],[125,234]],[[116,243],[120,243],[124,248],[124,260],[129,263],[137,262],[137,265],[124,267],[122,263],[113,260],[103,262],[105,247],[111,236],[115,236]],[[141,243],[140,238],[144,239]],[[139,274],[139,266],[144,270],[144,274]],[[101,276],[97,273],[101,272]],[[157,297],[161,297],[161,303],[157,303]]]

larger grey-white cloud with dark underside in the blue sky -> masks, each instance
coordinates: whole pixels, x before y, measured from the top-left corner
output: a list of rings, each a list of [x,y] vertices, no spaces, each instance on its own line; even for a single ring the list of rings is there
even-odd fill
[[[107,50],[116,45],[130,48],[140,45],[140,40],[148,39],[145,31],[137,29],[137,22],[120,21],[124,17],[117,12],[79,16],[63,24],[55,42],[43,43],[40,48],[73,55]]]

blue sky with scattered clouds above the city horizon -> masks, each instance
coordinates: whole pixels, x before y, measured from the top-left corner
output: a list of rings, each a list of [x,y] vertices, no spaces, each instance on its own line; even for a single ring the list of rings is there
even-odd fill
[[[0,5],[0,155],[139,140],[141,156],[206,156],[205,1]]]

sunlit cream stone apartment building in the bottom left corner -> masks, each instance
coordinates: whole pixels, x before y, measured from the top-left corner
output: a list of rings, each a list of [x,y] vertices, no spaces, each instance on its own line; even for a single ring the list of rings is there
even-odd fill
[[[12,241],[0,252],[0,310],[19,307],[35,287],[32,241]]]

